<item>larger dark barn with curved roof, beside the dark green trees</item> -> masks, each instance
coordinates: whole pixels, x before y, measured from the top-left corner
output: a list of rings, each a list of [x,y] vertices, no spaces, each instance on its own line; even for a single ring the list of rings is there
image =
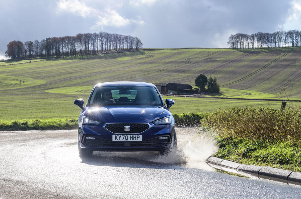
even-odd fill
[[[166,93],[172,94],[196,94],[199,92],[198,88],[193,88],[189,84],[168,83],[166,85]]]

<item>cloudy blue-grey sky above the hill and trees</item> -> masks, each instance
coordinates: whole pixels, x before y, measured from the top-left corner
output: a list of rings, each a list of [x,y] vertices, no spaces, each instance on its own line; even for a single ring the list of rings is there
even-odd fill
[[[301,29],[301,0],[0,0],[0,19],[0,59],[9,41],[100,31],[146,48],[221,48],[235,33]]]

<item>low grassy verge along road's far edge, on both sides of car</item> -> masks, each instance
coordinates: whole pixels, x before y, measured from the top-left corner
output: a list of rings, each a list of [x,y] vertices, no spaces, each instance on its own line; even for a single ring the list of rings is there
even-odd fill
[[[199,127],[201,119],[207,113],[182,113],[172,114],[176,127]],[[51,118],[51,119],[25,119],[25,120],[0,120],[0,131],[4,130],[67,130],[77,129],[77,119]]]

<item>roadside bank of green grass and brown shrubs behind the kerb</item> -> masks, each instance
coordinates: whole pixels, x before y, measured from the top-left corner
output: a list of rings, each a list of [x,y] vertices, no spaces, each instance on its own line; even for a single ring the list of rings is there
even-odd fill
[[[203,125],[217,133],[213,156],[301,171],[301,111],[231,108],[209,113]]]

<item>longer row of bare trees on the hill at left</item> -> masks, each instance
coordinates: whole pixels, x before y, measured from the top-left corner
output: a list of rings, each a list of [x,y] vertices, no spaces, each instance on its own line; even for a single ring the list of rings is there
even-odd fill
[[[108,32],[79,33],[76,36],[52,37],[41,41],[11,41],[5,56],[11,59],[64,57],[132,51],[142,47],[138,37]]]

